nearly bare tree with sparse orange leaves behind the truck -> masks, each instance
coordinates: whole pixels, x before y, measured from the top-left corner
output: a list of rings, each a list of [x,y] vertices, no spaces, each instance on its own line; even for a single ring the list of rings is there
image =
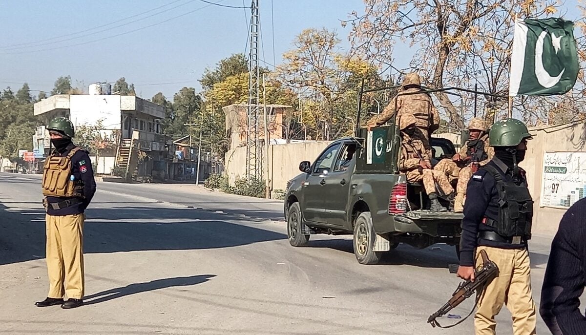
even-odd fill
[[[470,87],[505,94],[515,14],[536,17],[556,12],[556,2],[534,0],[364,0],[364,15],[352,13],[350,40],[357,52],[374,63],[391,66],[396,43],[417,48],[411,67],[434,88]],[[449,96],[435,94],[449,117],[462,128],[464,120]],[[468,101],[468,102],[467,102]],[[469,110],[471,99],[464,99]],[[506,99],[489,98],[485,107],[499,111]]]

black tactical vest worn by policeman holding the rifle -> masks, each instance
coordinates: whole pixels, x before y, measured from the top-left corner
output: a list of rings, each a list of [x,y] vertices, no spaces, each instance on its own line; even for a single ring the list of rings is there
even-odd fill
[[[520,236],[529,240],[533,220],[533,199],[526,181],[523,180],[519,185],[507,182],[494,166],[485,165],[481,169],[495,177],[496,190],[499,192],[499,219],[487,220],[486,225],[496,228],[496,232],[502,237]]]

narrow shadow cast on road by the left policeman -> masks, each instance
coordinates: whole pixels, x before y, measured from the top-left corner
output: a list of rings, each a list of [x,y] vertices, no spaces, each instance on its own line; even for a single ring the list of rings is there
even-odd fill
[[[159,289],[166,289],[176,286],[192,286],[200,283],[204,283],[210,280],[210,278],[216,275],[197,275],[188,277],[175,277],[157,279],[156,281],[134,283],[120,288],[114,288],[105,290],[102,292],[94,293],[84,297],[85,305],[93,305],[94,303],[105,302],[112,299],[122,298],[123,296],[133,295],[142,292],[149,292]]]

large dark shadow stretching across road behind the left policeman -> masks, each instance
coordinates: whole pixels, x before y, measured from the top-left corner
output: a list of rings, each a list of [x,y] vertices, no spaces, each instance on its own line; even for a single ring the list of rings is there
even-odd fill
[[[84,253],[229,248],[283,240],[255,221],[188,208],[120,207],[86,211]],[[0,265],[45,257],[45,212],[0,204]]]

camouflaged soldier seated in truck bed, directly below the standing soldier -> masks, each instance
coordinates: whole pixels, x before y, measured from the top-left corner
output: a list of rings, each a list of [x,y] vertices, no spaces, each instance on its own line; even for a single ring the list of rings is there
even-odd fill
[[[417,119],[411,114],[403,114],[399,119],[401,129],[401,159],[399,169],[412,183],[423,182],[425,193],[430,197],[432,211],[445,211],[446,208],[437,200],[435,183],[444,194],[453,197],[454,188],[449,184],[444,173],[431,169],[430,150],[425,149],[421,130],[417,128]]]

